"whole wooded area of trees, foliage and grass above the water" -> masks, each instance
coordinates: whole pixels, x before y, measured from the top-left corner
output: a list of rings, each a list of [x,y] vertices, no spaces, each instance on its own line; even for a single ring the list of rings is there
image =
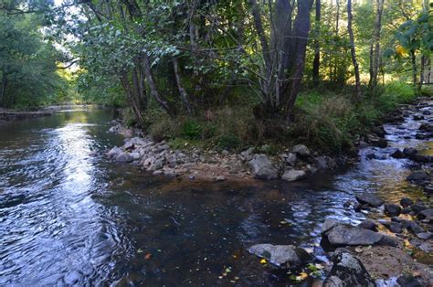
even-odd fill
[[[0,2],[0,107],[124,108],[174,146],[350,150],[429,94],[427,0]]]

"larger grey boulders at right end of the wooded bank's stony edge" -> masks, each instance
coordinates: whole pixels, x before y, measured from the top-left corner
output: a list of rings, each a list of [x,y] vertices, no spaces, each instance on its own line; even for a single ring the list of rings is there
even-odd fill
[[[333,169],[337,163],[329,156],[314,157],[308,147],[295,145],[285,154],[280,154],[272,162],[266,154],[254,154],[248,161],[251,173],[259,179],[281,178],[297,181],[321,170]]]

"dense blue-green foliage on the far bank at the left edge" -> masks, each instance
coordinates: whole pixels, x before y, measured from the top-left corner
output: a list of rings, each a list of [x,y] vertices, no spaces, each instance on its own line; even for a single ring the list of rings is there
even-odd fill
[[[25,109],[69,100],[56,64],[61,55],[45,41],[43,20],[0,11],[0,106]]]

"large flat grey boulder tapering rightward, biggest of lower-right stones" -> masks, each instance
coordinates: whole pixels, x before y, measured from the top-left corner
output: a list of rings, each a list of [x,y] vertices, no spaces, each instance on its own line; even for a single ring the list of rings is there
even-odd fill
[[[361,227],[354,227],[333,219],[326,220],[323,223],[322,238],[333,248],[343,246],[398,245],[396,239],[385,234]]]

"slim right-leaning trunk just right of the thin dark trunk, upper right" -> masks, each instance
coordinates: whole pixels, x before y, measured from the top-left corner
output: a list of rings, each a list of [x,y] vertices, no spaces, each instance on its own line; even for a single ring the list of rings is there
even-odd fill
[[[375,95],[377,88],[377,75],[379,70],[380,57],[380,32],[382,29],[382,13],[384,11],[384,0],[376,0],[376,15],[375,15],[375,45],[373,50],[373,63],[371,65],[370,90],[372,95]]]

